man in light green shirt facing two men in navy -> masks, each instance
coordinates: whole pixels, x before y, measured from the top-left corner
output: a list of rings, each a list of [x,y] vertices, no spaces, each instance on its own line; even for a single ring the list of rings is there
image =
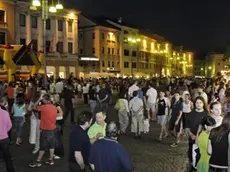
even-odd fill
[[[105,137],[105,128],[107,125],[105,118],[106,116],[103,112],[96,113],[96,122],[88,130],[88,136],[92,144],[98,139]]]

